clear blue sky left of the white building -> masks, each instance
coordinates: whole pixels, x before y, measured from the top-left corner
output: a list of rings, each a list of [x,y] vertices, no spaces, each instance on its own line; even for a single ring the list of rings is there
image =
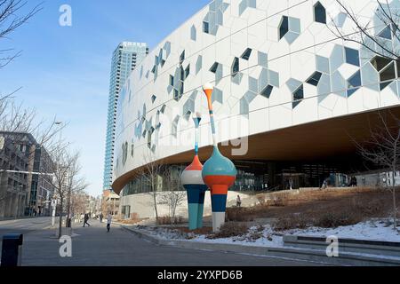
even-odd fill
[[[42,1],[29,0],[32,7]],[[64,136],[81,151],[88,193],[102,190],[111,54],[122,41],[148,43],[150,50],[209,0],[47,0],[43,11],[0,50],[22,51],[0,69],[0,93],[15,94],[40,116],[69,122]],[[60,6],[72,8],[72,27],[59,25]]]

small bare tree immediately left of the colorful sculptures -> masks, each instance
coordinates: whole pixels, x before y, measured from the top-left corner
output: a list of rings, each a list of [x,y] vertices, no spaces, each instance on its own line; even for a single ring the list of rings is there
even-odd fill
[[[172,166],[165,168],[163,172],[163,183],[165,191],[161,195],[161,201],[168,205],[171,224],[175,223],[176,209],[186,200],[186,192],[180,184],[181,171],[174,170]]]

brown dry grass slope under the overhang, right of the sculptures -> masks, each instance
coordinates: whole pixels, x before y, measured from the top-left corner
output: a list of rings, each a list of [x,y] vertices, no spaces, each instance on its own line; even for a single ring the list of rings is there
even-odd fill
[[[400,204],[400,193],[396,196]],[[246,209],[228,209],[228,221],[276,218],[276,230],[309,225],[354,225],[372,217],[388,217],[392,194],[388,189],[327,189],[300,193],[272,193],[267,202]]]

